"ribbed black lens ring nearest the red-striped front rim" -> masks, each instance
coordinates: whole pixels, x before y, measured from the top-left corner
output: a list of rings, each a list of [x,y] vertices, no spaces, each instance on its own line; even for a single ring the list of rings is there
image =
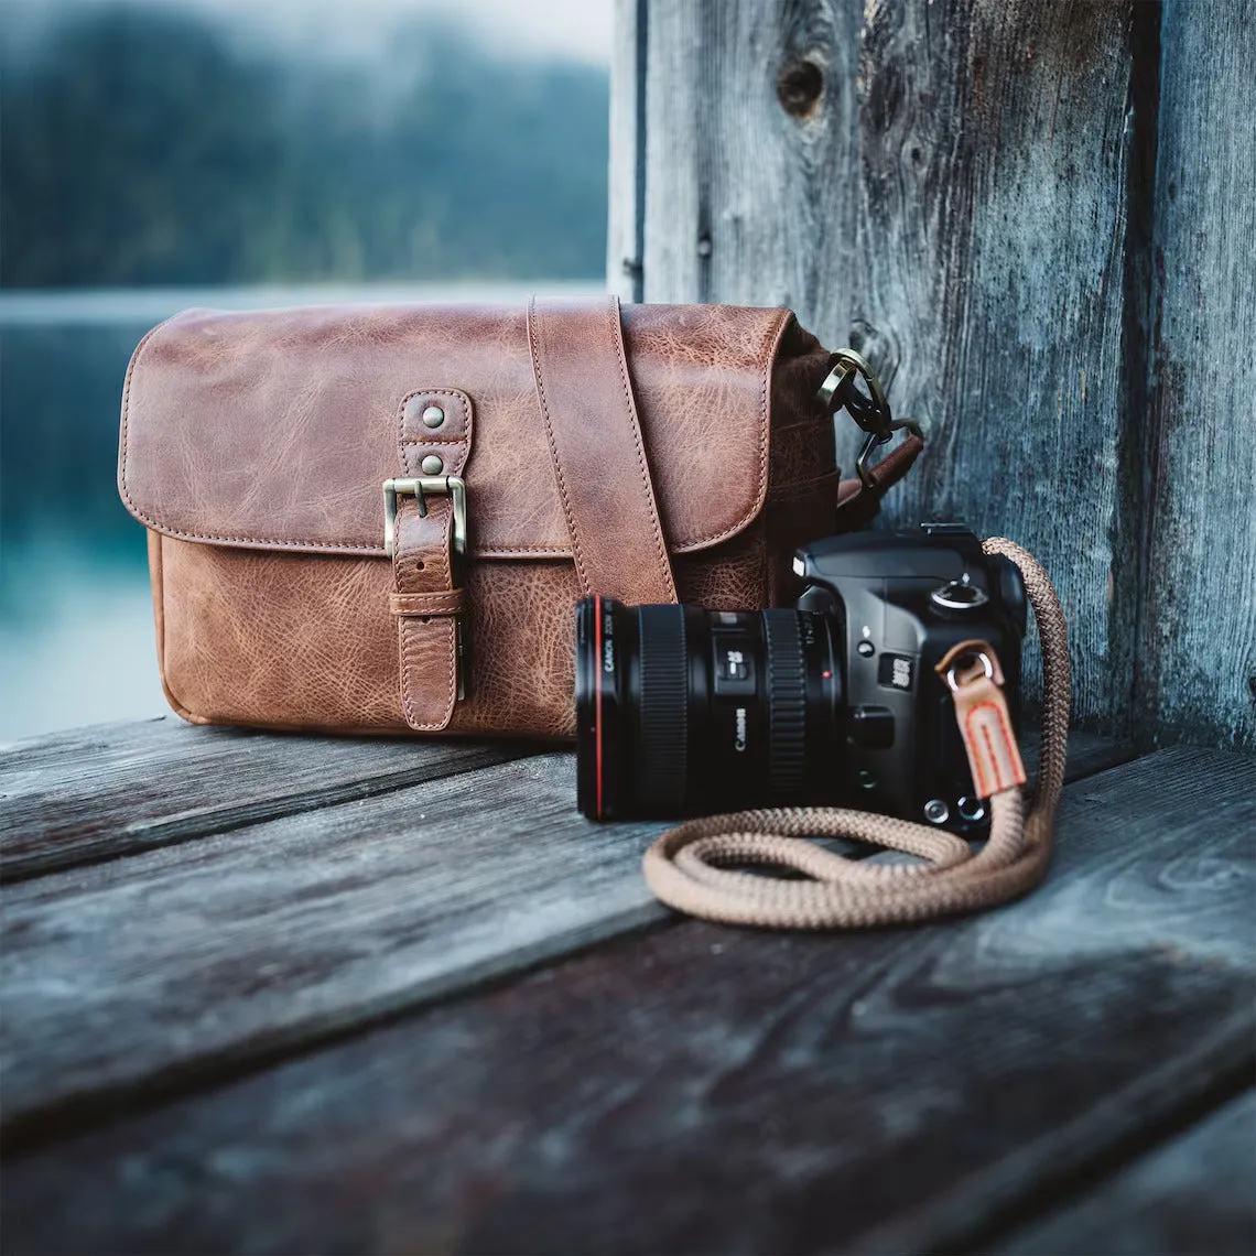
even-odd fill
[[[641,799],[681,811],[688,776],[690,683],[682,607],[638,607],[641,641]]]

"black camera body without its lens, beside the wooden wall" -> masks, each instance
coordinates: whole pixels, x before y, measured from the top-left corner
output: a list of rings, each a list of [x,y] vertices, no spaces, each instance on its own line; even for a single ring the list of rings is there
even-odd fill
[[[1020,571],[958,524],[855,533],[799,550],[799,610],[840,624],[845,745],[835,795],[860,809],[965,831],[986,811],[934,667],[961,642],[988,642],[1020,735],[1026,598]]]

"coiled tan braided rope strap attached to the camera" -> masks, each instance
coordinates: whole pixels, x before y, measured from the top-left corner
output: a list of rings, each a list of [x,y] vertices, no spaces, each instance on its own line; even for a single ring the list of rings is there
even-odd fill
[[[993,907],[1042,879],[1064,789],[1071,703],[1064,610],[1027,550],[1001,538],[982,549],[1020,569],[1042,646],[1042,745],[1029,814],[1019,785],[991,794],[990,839],[976,854],[953,834],[867,811],[804,806],[707,816],[671,829],[646,852],[646,880],[659,899],[727,924],[857,928]],[[798,840],[805,836],[853,838],[926,863],[855,862]],[[730,864],[785,868],[808,879],[761,877]]]

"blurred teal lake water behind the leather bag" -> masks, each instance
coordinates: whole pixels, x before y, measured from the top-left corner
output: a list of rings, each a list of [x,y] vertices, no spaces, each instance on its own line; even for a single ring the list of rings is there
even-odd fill
[[[192,305],[521,303],[598,285],[0,293],[0,741],[163,713],[144,529],[116,482],[131,352]]]

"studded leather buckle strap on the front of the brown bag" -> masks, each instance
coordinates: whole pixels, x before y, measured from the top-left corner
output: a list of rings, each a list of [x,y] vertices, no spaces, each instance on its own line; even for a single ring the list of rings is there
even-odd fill
[[[441,460],[436,474],[462,474],[472,426],[466,393],[451,388],[412,392],[401,403],[397,423],[403,475],[431,474],[423,467],[423,460],[431,457]],[[458,676],[465,639],[458,617],[466,595],[455,588],[452,539],[453,504],[448,497],[430,494],[422,507],[414,497],[398,497],[388,605],[398,617],[402,711],[420,732],[448,726],[466,681]]]

